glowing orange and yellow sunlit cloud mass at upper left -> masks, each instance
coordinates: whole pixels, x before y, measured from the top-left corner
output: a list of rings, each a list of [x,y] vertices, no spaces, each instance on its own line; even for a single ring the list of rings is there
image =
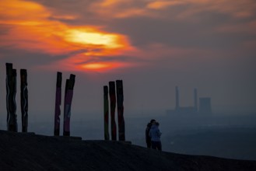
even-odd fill
[[[107,3],[107,2],[106,2]],[[52,15],[43,5],[35,2],[19,0],[2,0],[0,2],[0,24],[8,27],[8,32],[0,35],[0,46],[9,46],[26,51],[40,51],[51,56],[72,54],[84,51],[63,61],[68,63],[68,70],[111,68],[117,65],[103,63],[81,65],[79,62],[93,56],[115,56],[124,51],[134,49],[128,42],[128,37],[118,33],[107,33],[95,26],[68,26],[57,20],[75,19],[75,16]],[[82,60],[81,60],[82,58]],[[57,62],[63,67],[63,62]],[[82,66],[82,67],[81,67]],[[65,68],[63,68],[65,69]]]

